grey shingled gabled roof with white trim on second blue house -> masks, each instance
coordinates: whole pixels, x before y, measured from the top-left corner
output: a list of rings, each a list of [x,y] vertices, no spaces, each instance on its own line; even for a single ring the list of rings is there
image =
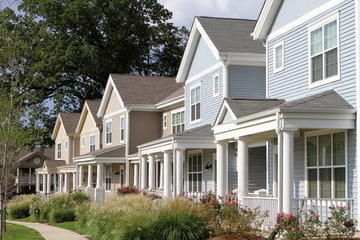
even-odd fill
[[[265,63],[264,46],[250,36],[255,23],[255,20],[195,17],[176,81],[185,82],[201,37],[219,61]]]

